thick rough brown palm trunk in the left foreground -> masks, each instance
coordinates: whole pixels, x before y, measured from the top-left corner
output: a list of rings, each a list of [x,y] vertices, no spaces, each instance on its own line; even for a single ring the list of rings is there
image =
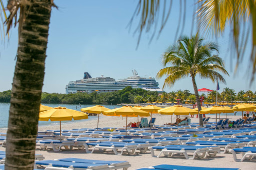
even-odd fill
[[[5,170],[33,170],[50,0],[30,0],[19,34],[6,137]]]

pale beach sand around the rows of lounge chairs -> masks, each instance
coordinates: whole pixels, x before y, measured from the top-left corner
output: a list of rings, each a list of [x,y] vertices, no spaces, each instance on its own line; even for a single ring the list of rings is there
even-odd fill
[[[215,121],[215,115],[206,115],[210,116],[209,121]],[[170,115],[159,115],[153,114],[153,117],[156,118],[155,124],[162,125],[170,122]],[[184,118],[185,116],[181,116]],[[241,116],[227,116],[231,120],[239,119]],[[225,118],[221,116],[220,118]],[[129,122],[135,122],[136,117],[128,117]],[[175,122],[175,116],[172,116],[172,123]],[[191,118],[191,122],[198,122],[197,118]],[[62,129],[74,129],[74,128],[95,128],[97,125],[97,120],[84,121],[84,122],[73,122],[71,124],[62,124]],[[122,127],[125,125],[125,118],[121,117],[111,117],[100,115],[99,127]],[[44,130],[58,130],[59,125],[54,126],[39,126],[39,131]],[[5,151],[5,148],[0,147],[1,151]],[[241,170],[256,170],[256,160],[244,161],[241,163],[235,162],[233,160],[232,154],[217,154],[216,157],[208,157],[205,159],[196,158],[194,160],[186,160],[182,157],[175,158],[153,158],[149,151],[146,154],[140,154],[137,152],[135,155],[122,155],[117,156],[112,152],[109,153],[100,153],[95,152],[93,154],[86,154],[84,150],[74,149],[72,151],[43,151],[39,148],[36,148],[36,154],[43,154],[45,160],[53,160],[60,158],[81,158],[81,159],[95,159],[95,160],[111,160],[111,161],[128,161],[131,167],[128,170],[136,170],[139,168],[146,168],[149,166],[155,166],[159,164],[171,164],[171,165],[182,165],[182,166],[195,166],[195,167],[214,167],[214,168],[240,168]],[[156,153],[158,154],[158,152]],[[241,156],[241,154],[239,154]],[[240,157],[238,157],[240,158]]]

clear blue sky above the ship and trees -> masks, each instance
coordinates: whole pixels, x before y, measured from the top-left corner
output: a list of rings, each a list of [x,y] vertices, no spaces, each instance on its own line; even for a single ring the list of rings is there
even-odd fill
[[[92,77],[101,74],[115,79],[132,75],[136,69],[140,76],[155,77],[162,68],[161,54],[168,45],[174,42],[177,28],[179,5],[173,1],[171,15],[159,38],[154,38],[149,44],[151,34],[143,34],[136,50],[137,37],[133,31],[138,24],[138,18],[133,22],[131,31],[126,27],[137,5],[137,0],[54,0],[59,9],[52,9],[47,58],[45,61],[45,76],[43,91],[65,93],[65,85],[71,80],[83,78],[87,71]],[[191,3],[187,1],[187,3]],[[192,3],[187,4],[186,21],[183,34],[191,34]],[[195,31],[195,29],[193,29]],[[220,84],[220,90],[225,87],[239,90],[256,90],[249,87],[247,63],[249,56],[234,76],[235,57],[228,55],[229,31],[218,39],[220,57],[225,61],[230,77],[225,76],[227,84]],[[208,37],[208,40],[214,40]],[[17,29],[12,28],[9,40],[0,44],[0,92],[11,89],[17,50]],[[231,48],[234,50],[234,48]],[[164,79],[157,80],[159,87]],[[198,88],[215,89],[216,85],[209,80],[196,77]],[[178,81],[172,90],[188,89],[193,92],[190,77]]]

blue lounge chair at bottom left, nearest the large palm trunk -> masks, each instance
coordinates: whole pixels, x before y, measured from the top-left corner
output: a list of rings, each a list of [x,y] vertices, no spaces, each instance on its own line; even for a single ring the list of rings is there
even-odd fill
[[[77,168],[77,169],[90,169],[90,170],[110,170],[107,164],[85,164],[85,163],[72,163],[72,162],[65,162],[65,161],[52,161],[52,160],[45,160],[45,161],[35,161],[36,165],[39,166],[46,166],[46,167],[54,167],[54,170],[58,170],[59,168]],[[47,169],[47,168],[45,168]],[[63,169],[60,169],[63,170]]]

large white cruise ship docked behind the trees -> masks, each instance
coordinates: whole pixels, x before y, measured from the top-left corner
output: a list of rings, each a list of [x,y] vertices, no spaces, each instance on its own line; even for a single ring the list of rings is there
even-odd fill
[[[127,86],[131,86],[131,88],[141,88],[147,91],[156,91],[161,93],[162,90],[158,87],[158,82],[155,81],[154,78],[148,77],[140,77],[136,70],[132,70],[133,76],[128,77],[126,79],[115,80],[111,77],[104,77],[101,75],[100,77],[92,78],[88,72],[84,72],[83,79],[70,81],[65,87],[65,93],[92,93],[96,91],[97,93],[104,92],[114,92],[118,90],[122,90]]]

